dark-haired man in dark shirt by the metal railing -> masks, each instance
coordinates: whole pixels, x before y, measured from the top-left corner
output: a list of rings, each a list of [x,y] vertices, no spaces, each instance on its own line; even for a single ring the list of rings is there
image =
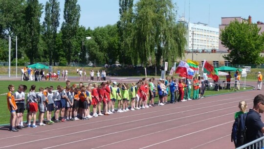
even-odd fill
[[[257,95],[254,98],[253,103],[254,103],[253,108],[249,109],[245,121],[245,125],[247,128],[245,143],[249,143],[264,136],[263,135],[264,124],[261,120],[261,115],[260,115],[260,113],[264,113],[264,95],[262,94]],[[256,146],[252,147],[252,146],[251,149],[262,148],[262,146],[261,147],[256,147]]]

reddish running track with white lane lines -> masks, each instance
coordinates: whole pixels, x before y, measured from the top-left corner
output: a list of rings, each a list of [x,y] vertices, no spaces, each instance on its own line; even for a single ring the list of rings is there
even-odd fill
[[[240,100],[259,90],[177,102],[38,128],[0,128],[0,149],[234,149],[231,128]]]

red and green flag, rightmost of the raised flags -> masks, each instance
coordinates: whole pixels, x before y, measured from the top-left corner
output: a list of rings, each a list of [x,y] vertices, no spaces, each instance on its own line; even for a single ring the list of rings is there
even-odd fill
[[[214,68],[214,66],[209,64],[206,60],[203,61],[202,70],[208,77],[211,77],[214,81],[218,82],[218,69]]]

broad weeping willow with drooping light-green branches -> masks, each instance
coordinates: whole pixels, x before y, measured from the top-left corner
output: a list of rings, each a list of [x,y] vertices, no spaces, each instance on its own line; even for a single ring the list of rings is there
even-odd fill
[[[186,30],[176,25],[172,0],[139,0],[135,4],[134,52],[148,66],[173,63],[182,57]]]

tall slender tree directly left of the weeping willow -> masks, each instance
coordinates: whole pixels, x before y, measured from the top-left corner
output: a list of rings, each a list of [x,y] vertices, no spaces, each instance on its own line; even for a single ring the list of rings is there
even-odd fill
[[[132,59],[137,59],[132,51],[133,43],[133,0],[119,0],[120,20],[117,22],[120,39],[119,62],[132,64]]]

